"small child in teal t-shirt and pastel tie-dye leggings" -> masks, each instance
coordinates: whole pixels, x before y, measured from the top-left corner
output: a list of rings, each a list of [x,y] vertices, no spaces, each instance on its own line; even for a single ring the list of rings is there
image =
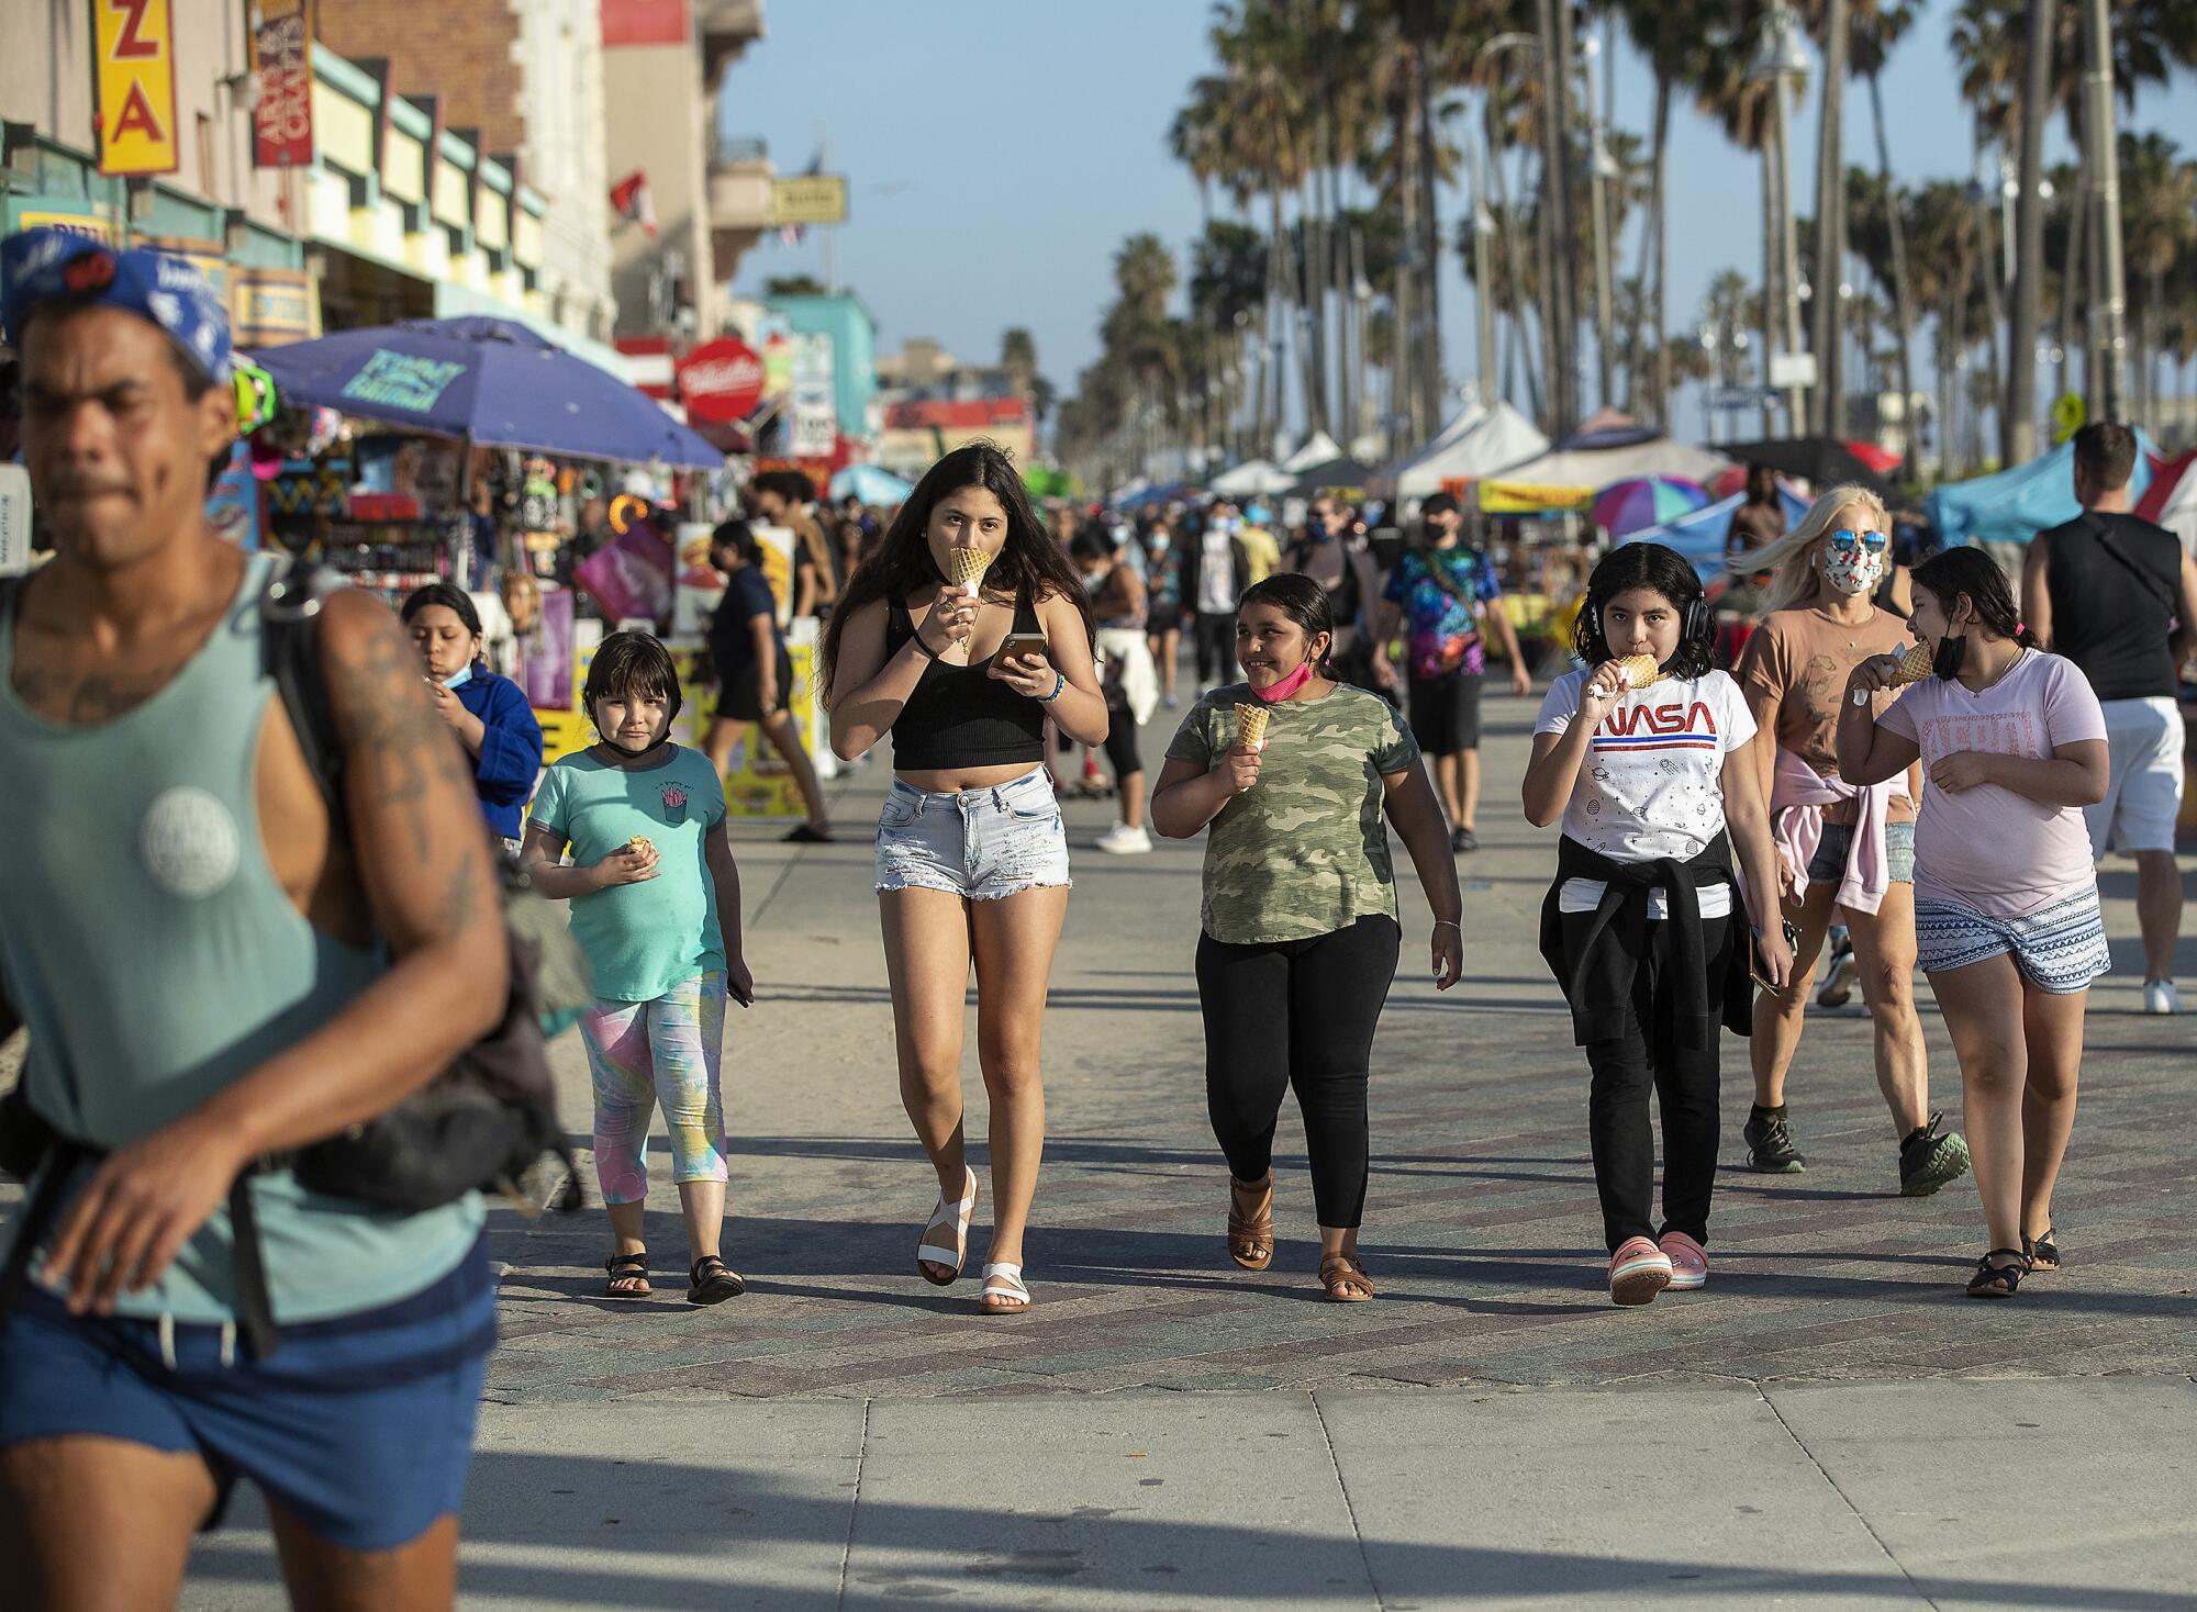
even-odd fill
[[[571,933],[593,973],[580,1039],[595,1087],[595,1182],[611,1214],[606,1294],[650,1294],[648,1116],[661,1105],[692,1254],[688,1302],[718,1305],[747,1291],[721,1247],[725,1001],[756,999],[740,958],[725,791],[707,755],[670,740],[679,672],[648,633],[602,641],[582,703],[600,740],[543,777],[523,865],[534,889],[571,903]]]

